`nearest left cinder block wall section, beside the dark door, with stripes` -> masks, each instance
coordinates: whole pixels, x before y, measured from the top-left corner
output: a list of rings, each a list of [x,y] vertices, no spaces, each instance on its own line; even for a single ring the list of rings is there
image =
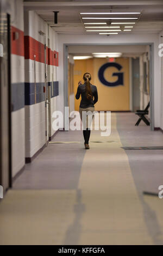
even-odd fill
[[[23,1],[10,0],[12,176],[25,164]]]

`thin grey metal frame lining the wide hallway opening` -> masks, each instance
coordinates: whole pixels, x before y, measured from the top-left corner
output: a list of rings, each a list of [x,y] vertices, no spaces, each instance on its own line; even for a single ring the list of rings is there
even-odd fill
[[[143,43],[116,43],[116,44],[63,44],[64,46],[64,106],[68,107],[68,46],[90,46],[90,45],[99,45],[99,46],[104,46],[104,45],[149,45],[149,70],[150,70],[150,130],[154,131],[154,43],[153,42],[143,42]]]

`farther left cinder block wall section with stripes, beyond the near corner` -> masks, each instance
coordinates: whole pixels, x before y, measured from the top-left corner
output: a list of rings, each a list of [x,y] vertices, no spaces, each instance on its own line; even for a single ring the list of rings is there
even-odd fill
[[[49,127],[49,105],[46,110],[45,99],[48,87],[51,87],[50,113],[53,113],[54,109],[57,109],[55,97],[59,94],[57,47],[57,34],[49,29],[47,23],[34,11],[26,11],[24,13],[24,48],[27,159],[33,157],[48,141],[49,135],[52,136],[54,133],[52,127]],[[47,75],[46,91],[45,72]]]

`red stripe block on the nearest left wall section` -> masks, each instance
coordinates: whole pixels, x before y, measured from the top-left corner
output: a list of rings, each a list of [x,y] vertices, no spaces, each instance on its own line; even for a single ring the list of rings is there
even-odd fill
[[[24,56],[24,32],[11,26],[11,53]]]

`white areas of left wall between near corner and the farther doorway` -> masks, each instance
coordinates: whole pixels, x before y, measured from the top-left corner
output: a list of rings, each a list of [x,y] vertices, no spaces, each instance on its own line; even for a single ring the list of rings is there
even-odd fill
[[[40,35],[39,31],[45,33],[45,36]],[[48,25],[34,11],[25,11],[24,35],[29,35],[42,44],[45,44],[45,42],[47,44]],[[35,78],[36,83],[45,82],[45,64],[36,61],[34,72],[34,60],[26,59],[25,82],[34,83]],[[26,157],[32,157],[46,143],[45,117],[45,101],[25,106]]]

